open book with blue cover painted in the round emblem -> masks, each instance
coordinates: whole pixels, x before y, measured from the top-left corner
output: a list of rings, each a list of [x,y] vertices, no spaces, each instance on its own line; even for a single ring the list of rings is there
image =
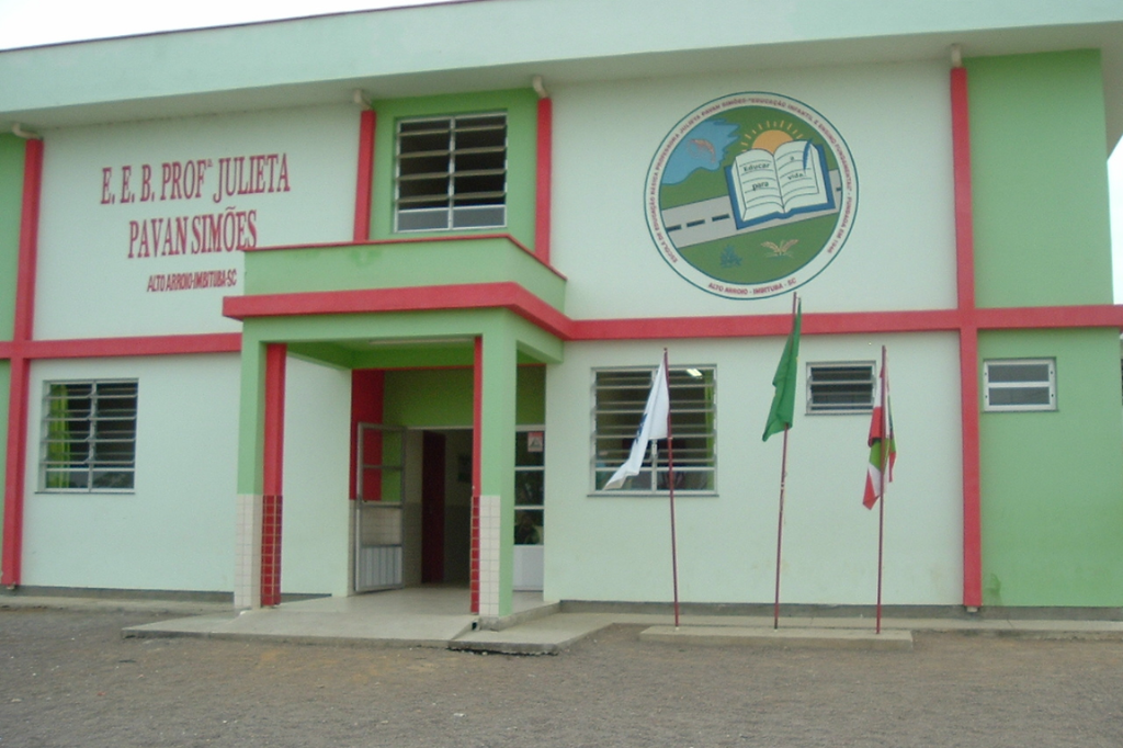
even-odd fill
[[[788,140],[775,154],[763,148],[746,150],[725,175],[739,229],[834,208],[827,157],[810,140]]]

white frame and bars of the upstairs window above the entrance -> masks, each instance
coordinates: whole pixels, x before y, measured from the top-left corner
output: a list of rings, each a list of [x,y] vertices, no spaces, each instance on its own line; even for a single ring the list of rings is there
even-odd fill
[[[464,146],[471,134],[495,133],[499,127],[494,120],[502,119],[503,145]],[[489,120],[491,120],[489,122]],[[431,124],[431,129],[416,129]],[[400,119],[394,134],[394,230],[402,234],[419,231],[456,231],[503,228],[506,226],[506,189],[508,189],[508,137],[509,120],[504,111],[474,112],[466,115],[449,115],[442,117],[408,117]],[[403,128],[405,131],[403,133]],[[403,139],[436,139],[447,133],[444,147],[429,143],[433,147],[426,150],[403,148]],[[465,137],[468,136],[468,137]],[[458,140],[458,137],[460,138]],[[502,156],[502,167],[489,164],[475,168],[459,166],[458,159],[491,161],[490,157]],[[439,163],[445,157],[445,163]],[[416,159],[416,166],[403,168],[403,162]],[[499,190],[465,191],[460,188],[467,180],[502,179]],[[420,194],[403,195],[403,185],[410,182],[439,182],[444,180],[444,194],[439,189],[422,191]],[[436,184],[433,184],[436,188]],[[410,208],[411,203],[422,207]],[[442,203],[442,204],[433,204]],[[467,204],[466,204],[467,203]],[[493,218],[497,217],[497,218]],[[413,219],[411,225],[410,219]],[[429,222],[426,222],[429,219]]]

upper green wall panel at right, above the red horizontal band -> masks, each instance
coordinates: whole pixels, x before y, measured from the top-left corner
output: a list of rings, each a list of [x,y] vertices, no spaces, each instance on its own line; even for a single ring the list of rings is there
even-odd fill
[[[966,64],[978,305],[1112,303],[1099,53]]]

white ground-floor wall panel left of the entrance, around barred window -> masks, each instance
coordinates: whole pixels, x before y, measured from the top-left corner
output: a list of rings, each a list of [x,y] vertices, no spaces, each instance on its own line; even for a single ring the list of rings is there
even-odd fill
[[[231,590],[238,372],[232,355],[35,362],[22,583]],[[39,492],[44,382],[109,378],[138,380],[136,490]]]

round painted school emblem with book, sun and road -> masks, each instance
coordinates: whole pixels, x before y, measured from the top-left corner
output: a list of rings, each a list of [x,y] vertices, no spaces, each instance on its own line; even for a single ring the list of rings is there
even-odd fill
[[[645,200],[676,273],[728,299],[767,299],[838,256],[858,211],[858,173],[842,136],[807,104],[734,93],[667,135]]]

